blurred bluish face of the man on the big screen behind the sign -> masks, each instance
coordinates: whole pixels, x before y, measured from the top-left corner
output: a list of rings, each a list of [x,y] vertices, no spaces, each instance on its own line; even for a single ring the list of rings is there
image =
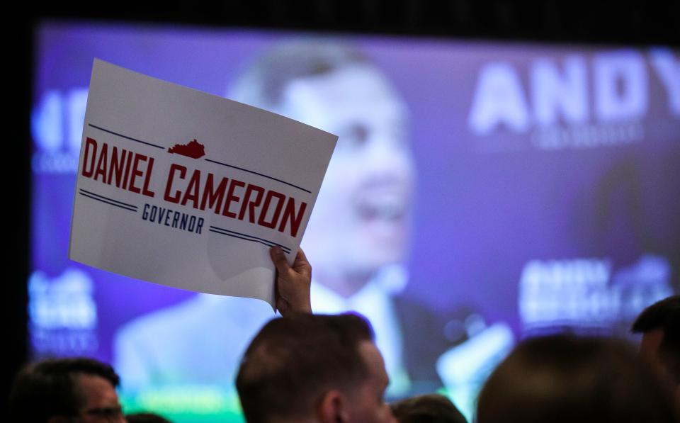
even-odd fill
[[[317,281],[351,295],[404,259],[414,179],[406,108],[377,69],[361,64],[291,82],[284,106],[339,135],[303,247]]]

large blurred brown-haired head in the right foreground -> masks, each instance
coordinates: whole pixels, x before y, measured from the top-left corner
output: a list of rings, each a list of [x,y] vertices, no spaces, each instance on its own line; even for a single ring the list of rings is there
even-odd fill
[[[477,422],[676,422],[669,394],[623,341],[533,338],[489,377]]]

